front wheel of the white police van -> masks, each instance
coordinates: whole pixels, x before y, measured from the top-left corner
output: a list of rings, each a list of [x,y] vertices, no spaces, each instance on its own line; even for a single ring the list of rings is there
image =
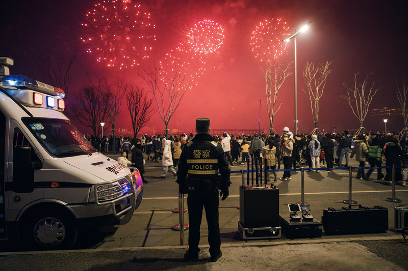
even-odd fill
[[[36,210],[22,226],[22,241],[37,249],[69,249],[77,240],[78,228],[56,209]]]

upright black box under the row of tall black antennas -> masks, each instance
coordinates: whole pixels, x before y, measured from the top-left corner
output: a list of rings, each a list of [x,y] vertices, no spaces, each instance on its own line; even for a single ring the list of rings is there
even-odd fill
[[[239,218],[245,228],[279,226],[279,189],[241,186]]]

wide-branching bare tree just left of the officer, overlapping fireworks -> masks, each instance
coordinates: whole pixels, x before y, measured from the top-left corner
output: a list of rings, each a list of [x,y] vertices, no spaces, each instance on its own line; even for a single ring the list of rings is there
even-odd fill
[[[146,83],[155,97],[160,117],[166,127],[164,132],[168,138],[170,119],[179,107],[192,81],[188,80],[186,74],[182,72],[181,63],[174,62],[174,68],[165,74],[161,73],[161,69],[155,65],[154,69],[150,67],[144,73],[139,73],[139,77]]]

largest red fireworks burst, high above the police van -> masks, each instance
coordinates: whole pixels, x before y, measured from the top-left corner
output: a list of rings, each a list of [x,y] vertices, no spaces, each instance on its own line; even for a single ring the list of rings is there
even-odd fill
[[[86,21],[82,23],[86,35],[81,40],[97,62],[123,69],[138,66],[141,59],[149,57],[151,42],[156,40],[151,34],[155,25],[140,5],[105,0],[86,13]]]

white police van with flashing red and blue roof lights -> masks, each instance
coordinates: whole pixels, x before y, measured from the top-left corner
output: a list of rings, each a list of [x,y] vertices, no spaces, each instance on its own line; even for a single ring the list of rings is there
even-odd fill
[[[68,249],[82,227],[129,222],[137,169],[92,147],[64,115],[62,89],[10,75],[13,64],[0,57],[0,240]]]

